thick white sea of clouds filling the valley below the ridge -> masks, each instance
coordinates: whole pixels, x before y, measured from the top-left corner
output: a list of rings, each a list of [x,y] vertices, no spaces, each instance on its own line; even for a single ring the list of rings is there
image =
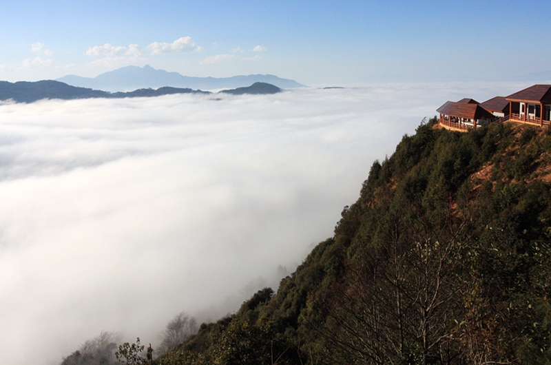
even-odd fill
[[[236,311],[332,235],[424,116],[526,86],[1,104],[1,362],[59,364],[104,330],[155,345],[176,313]]]

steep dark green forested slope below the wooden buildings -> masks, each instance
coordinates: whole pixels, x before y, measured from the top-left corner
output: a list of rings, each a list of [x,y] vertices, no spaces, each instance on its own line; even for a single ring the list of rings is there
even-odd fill
[[[422,123],[332,238],[168,364],[549,364],[551,131]]]

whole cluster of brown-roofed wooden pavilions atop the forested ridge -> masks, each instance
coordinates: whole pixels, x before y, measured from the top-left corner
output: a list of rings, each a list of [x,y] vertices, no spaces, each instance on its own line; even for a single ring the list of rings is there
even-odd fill
[[[551,85],[533,85],[506,97],[495,96],[484,103],[470,98],[447,101],[437,112],[439,125],[462,132],[506,121],[550,125]]]

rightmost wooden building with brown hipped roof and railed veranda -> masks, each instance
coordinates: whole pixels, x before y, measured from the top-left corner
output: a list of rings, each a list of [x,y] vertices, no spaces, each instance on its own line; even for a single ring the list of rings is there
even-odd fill
[[[550,125],[551,85],[533,85],[506,97],[510,121]]]

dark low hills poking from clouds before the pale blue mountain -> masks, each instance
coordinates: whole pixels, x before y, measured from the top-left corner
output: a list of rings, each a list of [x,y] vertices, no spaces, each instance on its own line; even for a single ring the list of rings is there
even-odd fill
[[[253,83],[249,87],[239,87],[234,90],[223,90],[228,94],[275,94],[282,91],[279,87],[269,83]],[[144,96],[161,96],[167,94],[211,94],[190,88],[159,87],[154,89],[138,89],[132,92],[105,92],[85,87],[76,87],[60,81],[44,80],[34,83],[19,81],[10,83],[0,81],[0,101],[12,99],[18,103],[32,103],[45,98],[50,99],[83,99],[83,98],[136,98]]]

